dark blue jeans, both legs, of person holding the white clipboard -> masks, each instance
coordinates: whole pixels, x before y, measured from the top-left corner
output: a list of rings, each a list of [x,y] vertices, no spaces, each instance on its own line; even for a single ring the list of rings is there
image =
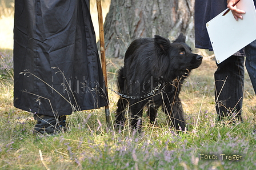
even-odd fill
[[[256,93],[256,41],[245,47],[246,69]],[[230,56],[214,73],[215,79],[215,108],[219,119],[231,116],[242,121],[243,87],[245,58],[243,56]]]

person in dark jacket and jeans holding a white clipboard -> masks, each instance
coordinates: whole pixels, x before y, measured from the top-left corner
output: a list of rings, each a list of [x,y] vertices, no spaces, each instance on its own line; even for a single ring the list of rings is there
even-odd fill
[[[195,0],[195,47],[213,50],[205,24],[227,7],[233,13],[234,19],[243,19],[245,11],[237,9],[237,6],[233,7],[235,1],[237,0]],[[214,73],[215,108],[219,120],[227,117],[231,122],[233,120],[242,122],[245,56],[246,69],[256,92],[256,41],[254,41],[217,64],[218,68]]]

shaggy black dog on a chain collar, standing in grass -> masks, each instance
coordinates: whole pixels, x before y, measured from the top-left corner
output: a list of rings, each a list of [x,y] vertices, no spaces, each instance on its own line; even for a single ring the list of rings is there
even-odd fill
[[[193,54],[181,33],[171,43],[159,35],[133,41],[125,54],[125,65],[119,70],[119,92],[116,126],[124,126],[125,109],[130,108],[131,127],[141,129],[142,111],[147,107],[150,123],[155,122],[162,106],[170,125],[185,129],[179,91],[192,69],[202,63],[202,56]]]

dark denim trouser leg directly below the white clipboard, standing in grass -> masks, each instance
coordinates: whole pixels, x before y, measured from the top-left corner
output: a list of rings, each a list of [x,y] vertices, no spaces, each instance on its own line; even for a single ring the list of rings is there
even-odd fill
[[[221,120],[223,116],[235,115],[242,121],[243,84],[245,58],[243,56],[230,56],[214,73],[216,111]]]

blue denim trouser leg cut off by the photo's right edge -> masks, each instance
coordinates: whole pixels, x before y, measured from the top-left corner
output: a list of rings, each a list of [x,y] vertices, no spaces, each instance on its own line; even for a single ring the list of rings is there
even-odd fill
[[[256,41],[245,47],[245,66],[253,84],[253,89],[256,94]]]

